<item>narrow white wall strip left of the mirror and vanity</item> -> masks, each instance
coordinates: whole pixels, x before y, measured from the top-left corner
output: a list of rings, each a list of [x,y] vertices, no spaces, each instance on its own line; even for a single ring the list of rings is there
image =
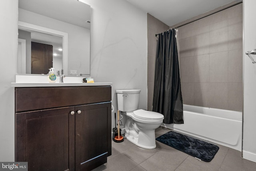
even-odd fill
[[[14,88],[18,50],[18,0],[0,1],[0,161],[14,161]]]

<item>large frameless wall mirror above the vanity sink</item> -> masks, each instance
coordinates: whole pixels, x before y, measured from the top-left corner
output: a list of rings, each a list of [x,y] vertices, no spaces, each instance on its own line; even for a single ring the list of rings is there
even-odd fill
[[[89,5],[19,0],[18,30],[18,74],[47,74],[53,67],[66,76],[90,75]]]

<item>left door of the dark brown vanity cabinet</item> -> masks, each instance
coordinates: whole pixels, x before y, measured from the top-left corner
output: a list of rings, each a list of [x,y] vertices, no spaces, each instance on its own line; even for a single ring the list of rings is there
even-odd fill
[[[29,171],[74,171],[71,111],[75,107],[16,113],[16,161],[27,161]]]

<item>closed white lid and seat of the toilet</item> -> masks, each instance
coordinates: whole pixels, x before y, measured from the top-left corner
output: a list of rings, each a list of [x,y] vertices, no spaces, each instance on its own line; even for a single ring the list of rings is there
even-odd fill
[[[143,109],[133,111],[134,117],[139,119],[146,119],[146,120],[162,120],[164,119],[164,115],[161,113],[157,113],[154,111],[147,111]]]

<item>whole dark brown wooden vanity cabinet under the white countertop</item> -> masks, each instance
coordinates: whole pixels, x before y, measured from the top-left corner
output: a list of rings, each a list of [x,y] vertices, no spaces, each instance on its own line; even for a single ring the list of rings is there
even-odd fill
[[[15,160],[27,161],[29,171],[88,171],[106,163],[110,86],[16,87],[15,98]]]

